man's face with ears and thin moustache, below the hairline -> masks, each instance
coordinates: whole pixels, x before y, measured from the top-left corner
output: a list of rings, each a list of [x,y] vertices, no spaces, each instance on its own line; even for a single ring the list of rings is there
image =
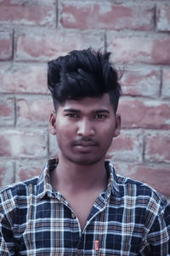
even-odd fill
[[[66,100],[50,117],[50,131],[57,136],[60,158],[78,165],[105,160],[120,125],[121,118],[115,115],[109,94]]]

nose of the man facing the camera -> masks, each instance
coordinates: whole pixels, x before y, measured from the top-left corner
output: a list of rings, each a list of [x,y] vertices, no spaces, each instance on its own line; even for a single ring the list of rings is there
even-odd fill
[[[88,119],[82,119],[78,123],[77,135],[82,137],[88,137],[94,135],[93,122]]]

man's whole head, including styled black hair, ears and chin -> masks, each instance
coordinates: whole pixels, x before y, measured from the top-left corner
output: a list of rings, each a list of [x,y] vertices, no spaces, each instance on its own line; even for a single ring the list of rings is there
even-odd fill
[[[120,133],[116,113],[121,88],[110,53],[74,50],[48,62],[48,88],[55,112],[49,119],[59,159],[78,165],[103,163],[113,137]]]

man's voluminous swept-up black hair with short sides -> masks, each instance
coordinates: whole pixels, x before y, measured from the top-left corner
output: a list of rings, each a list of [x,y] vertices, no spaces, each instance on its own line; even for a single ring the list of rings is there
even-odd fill
[[[55,110],[65,100],[109,93],[116,113],[122,90],[110,55],[110,52],[102,54],[89,48],[72,50],[68,55],[48,61],[48,89],[52,93]]]

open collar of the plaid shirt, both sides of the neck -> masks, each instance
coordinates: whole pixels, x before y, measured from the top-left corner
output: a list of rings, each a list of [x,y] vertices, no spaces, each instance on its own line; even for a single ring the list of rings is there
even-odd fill
[[[45,195],[49,197],[56,197],[56,191],[54,191],[50,183],[50,172],[52,172],[58,165],[58,159],[50,159],[43,169],[42,174],[38,177],[37,181],[37,198],[42,199]],[[107,200],[111,195],[111,192],[116,197],[120,196],[118,179],[114,167],[109,160],[105,160],[105,169],[108,173],[109,183],[105,191],[105,199]]]

